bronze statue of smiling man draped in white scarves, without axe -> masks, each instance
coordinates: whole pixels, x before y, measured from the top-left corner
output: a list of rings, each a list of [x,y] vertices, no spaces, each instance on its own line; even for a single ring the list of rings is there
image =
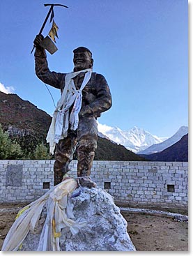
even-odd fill
[[[77,149],[77,176],[81,186],[95,187],[89,177],[97,148],[96,119],[111,107],[111,93],[105,77],[93,73],[92,53],[86,47],[74,52],[72,73],[50,71],[47,57],[36,36],[36,75],[40,80],[61,90],[59,100],[47,135],[51,152],[55,154],[54,185],[63,180]],[[54,151],[55,150],[55,151]]]

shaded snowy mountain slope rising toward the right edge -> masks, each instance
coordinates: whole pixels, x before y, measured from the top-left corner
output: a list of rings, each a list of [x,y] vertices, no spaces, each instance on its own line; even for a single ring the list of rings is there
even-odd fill
[[[175,144],[176,142],[178,142],[187,133],[188,133],[188,127],[181,126],[180,129],[169,139],[165,140],[162,143],[154,144],[154,145],[148,147],[148,149],[141,150],[138,153],[150,155],[151,153],[160,152],[164,149],[167,149],[169,146]]]

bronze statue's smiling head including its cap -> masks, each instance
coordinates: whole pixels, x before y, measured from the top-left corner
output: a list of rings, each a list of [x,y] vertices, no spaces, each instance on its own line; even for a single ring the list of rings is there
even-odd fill
[[[86,47],[78,47],[74,51],[73,62],[75,65],[74,71],[93,68],[92,52]]]

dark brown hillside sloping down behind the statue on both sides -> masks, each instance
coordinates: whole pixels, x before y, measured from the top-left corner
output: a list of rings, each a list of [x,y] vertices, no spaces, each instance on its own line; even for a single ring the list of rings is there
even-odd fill
[[[0,123],[3,130],[8,130],[11,139],[17,140],[22,149],[29,153],[40,142],[45,142],[52,117],[39,110],[29,101],[22,100],[16,94],[0,91]],[[98,137],[98,149],[95,152],[98,160],[144,160],[124,146]]]

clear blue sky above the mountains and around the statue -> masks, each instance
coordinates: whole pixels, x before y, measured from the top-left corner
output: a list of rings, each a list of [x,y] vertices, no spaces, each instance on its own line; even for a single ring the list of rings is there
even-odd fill
[[[0,83],[13,86],[24,100],[47,113],[52,98],[34,72],[33,39],[49,1],[0,2]],[[105,75],[113,106],[98,119],[128,130],[138,126],[170,137],[188,123],[188,1],[185,0],[52,0],[59,26],[59,50],[47,53],[50,70],[72,71],[72,50],[86,46],[94,68]],[[47,36],[49,22],[43,31]],[[55,102],[60,92],[49,86]]]

